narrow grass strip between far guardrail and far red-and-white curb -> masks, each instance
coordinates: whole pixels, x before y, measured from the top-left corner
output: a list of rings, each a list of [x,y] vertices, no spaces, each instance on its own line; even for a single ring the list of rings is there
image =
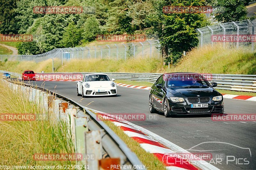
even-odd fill
[[[116,83],[124,83],[127,85],[139,85],[139,86],[147,86],[151,87],[153,83],[145,82],[145,81],[129,81],[129,80],[115,80]],[[237,92],[237,91],[231,91],[231,90],[220,90],[215,89],[221,94],[235,94],[235,95],[244,95],[244,96],[256,96],[255,92]]]

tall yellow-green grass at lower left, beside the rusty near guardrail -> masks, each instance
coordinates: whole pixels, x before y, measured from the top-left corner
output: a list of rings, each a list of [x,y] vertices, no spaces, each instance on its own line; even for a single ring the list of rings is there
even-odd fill
[[[13,92],[0,81],[0,113],[42,114],[35,103],[23,93]],[[71,139],[67,138],[65,123],[52,124],[48,120],[0,121],[0,160],[2,165],[70,165],[75,161],[36,161],[35,153],[74,153]]]

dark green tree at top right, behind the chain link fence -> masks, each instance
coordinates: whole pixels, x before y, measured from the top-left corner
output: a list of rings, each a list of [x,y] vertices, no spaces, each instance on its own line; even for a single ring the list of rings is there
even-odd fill
[[[218,0],[220,8],[214,12],[219,22],[241,21],[247,18],[247,8],[250,0]]]

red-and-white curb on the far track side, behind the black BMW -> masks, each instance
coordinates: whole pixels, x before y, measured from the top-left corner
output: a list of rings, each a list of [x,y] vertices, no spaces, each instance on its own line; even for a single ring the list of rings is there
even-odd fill
[[[116,83],[116,85],[119,85],[122,87],[150,90],[150,87],[146,87],[146,86],[127,85],[123,83]],[[223,95],[223,98],[226,98],[226,99],[256,101],[256,96],[242,96],[242,95],[234,95],[234,94],[222,94],[222,95]]]

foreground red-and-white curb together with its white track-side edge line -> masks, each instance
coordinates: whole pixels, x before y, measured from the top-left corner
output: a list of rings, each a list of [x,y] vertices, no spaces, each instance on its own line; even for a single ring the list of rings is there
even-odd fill
[[[190,152],[184,150],[176,144],[173,144],[163,137],[150,132],[147,129],[116,117],[115,115],[110,115],[91,108],[88,109],[92,110],[96,114],[100,114],[101,116],[106,116],[109,121],[113,122],[117,127],[122,129],[127,136],[137,141],[145,151],[154,154],[160,161],[162,161],[166,166],[166,169],[218,170],[217,167],[204,160],[193,160],[193,163],[191,163],[186,159],[174,157],[173,153],[178,152],[190,154]]]

